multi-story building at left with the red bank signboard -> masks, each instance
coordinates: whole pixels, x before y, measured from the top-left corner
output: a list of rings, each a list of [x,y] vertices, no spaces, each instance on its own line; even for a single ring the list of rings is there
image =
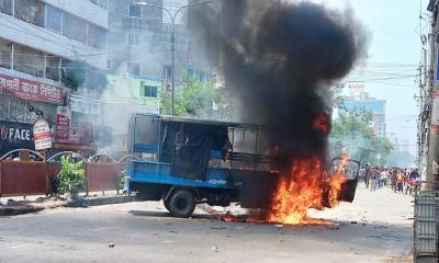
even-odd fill
[[[71,104],[71,128],[54,150],[93,150],[93,99],[106,85],[106,0],[0,0],[2,130],[29,130],[40,115],[56,134],[57,107]],[[31,137],[3,132],[0,155],[32,148]]]

